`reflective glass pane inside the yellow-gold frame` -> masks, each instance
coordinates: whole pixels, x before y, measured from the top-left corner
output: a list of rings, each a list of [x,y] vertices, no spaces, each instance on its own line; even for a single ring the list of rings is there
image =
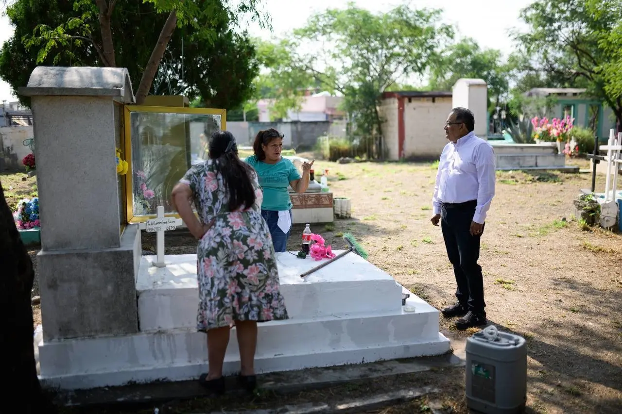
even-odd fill
[[[170,192],[194,163],[207,158],[207,140],[221,116],[132,111],[132,206],[134,216],[175,213]]]

